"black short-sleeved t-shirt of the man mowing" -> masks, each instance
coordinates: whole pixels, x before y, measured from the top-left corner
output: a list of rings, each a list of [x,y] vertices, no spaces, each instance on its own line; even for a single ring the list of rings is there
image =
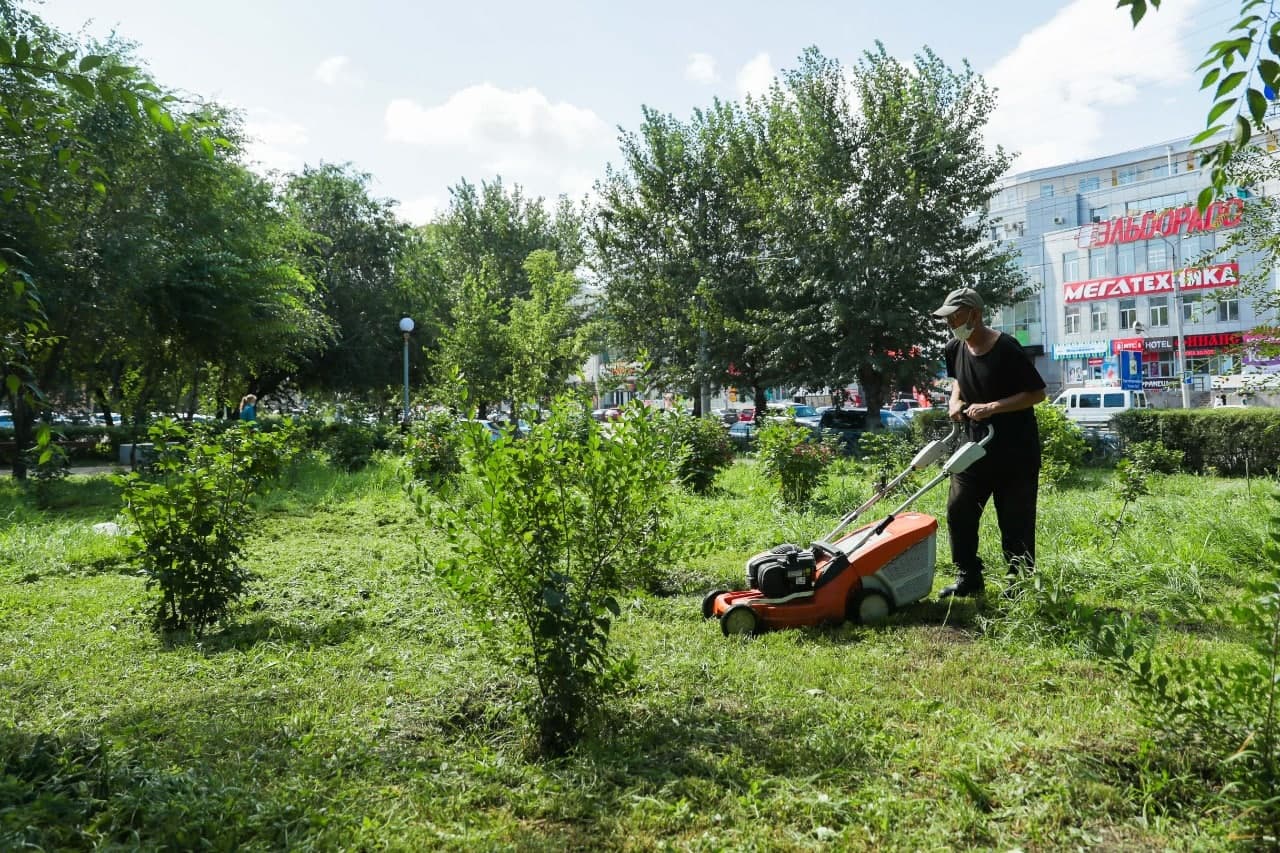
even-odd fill
[[[966,403],[995,402],[1023,391],[1039,391],[1044,380],[1016,339],[1000,333],[987,352],[975,356],[961,341],[948,341],[947,375],[960,383]],[[988,465],[1039,466],[1039,432],[1030,409],[1002,412],[987,419],[996,437],[987,446]]]

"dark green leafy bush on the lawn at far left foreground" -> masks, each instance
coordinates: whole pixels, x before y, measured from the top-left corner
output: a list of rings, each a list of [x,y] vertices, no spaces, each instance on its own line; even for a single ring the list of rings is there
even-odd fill
[[[147,588],[160,588],[156,624],[198,637],[244,592],[250,498],[291,459],[292,430],[236,426],[211,434],[166,420],[148,432],[154,465],[116,478],[131,542]]]

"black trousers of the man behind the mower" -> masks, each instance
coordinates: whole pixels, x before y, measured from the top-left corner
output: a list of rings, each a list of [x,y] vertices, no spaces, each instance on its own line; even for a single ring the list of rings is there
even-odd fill
[[[982,576],[978,557],[978,523],[989,498],[995,498],[1000,524],[1000,547],[1010,573],[1036,567],[1036,496],[1039,465],[995,466],[983,460],[973,469],[951,476],[947,496],[947,526],[951,561],[961,576]]]

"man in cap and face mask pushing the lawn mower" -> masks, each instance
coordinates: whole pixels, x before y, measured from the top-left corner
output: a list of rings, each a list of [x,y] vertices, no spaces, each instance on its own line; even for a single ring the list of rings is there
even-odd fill
[[[1044,400],[1044,380],[1018,341],[983,323],[982,307],[978,291],[963,287],[947,293],[933,313],[946,319],[954,336],[946,347],[947,375],[954,380],[947,407],[951,420],[968,421],[970,430],[982,423],[996,430],[987,444],[987,456],[951,476],[947,526],[957,575],[940,593],[941,598],[977,596],[986,587],[978,556],[978,523],[988,498],[996,500],[1009,589],[1020,574],[1036,566],[1041,456],[1032,407]]]

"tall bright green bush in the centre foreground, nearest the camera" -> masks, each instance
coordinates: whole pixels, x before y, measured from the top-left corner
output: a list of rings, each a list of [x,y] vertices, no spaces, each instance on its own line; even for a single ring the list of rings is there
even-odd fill
[[[673,466],[653,412],[612,425],[561,400],[520,442],[468,433],[470,501],[434,506],[449,548],[424,552],[442,583],[494,634],[486,649],[536,683],[525,711],[543,754],[581,738],[626,669],[609,648],[617,596],[675,553]],[[433,511],[430,496],[419,505]]]

